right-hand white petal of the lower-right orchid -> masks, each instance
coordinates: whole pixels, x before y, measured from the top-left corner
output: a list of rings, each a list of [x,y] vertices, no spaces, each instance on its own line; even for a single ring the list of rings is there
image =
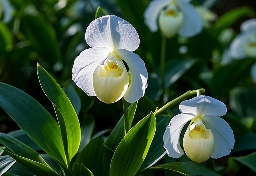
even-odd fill
[[[214,149],[211,158],[221,158],[230,154],[234,146],[234,134],[228,123],[217,116],[204,116],[203,123],[211,129],[214,137]]]

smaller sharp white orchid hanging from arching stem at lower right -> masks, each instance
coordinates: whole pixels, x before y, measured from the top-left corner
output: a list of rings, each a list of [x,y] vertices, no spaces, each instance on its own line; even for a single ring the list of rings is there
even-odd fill
[[[197,96],[180,103],[182,114],[174,116],[163,135],[163,146],[169,157],[184,154],[198,163],[220,158],[230,153],[234,146],[233,131],[223,116],[226,105],[209,96]],[[191,121],[183,138],[184,151],[180,146],[180,134],[184,125]]]

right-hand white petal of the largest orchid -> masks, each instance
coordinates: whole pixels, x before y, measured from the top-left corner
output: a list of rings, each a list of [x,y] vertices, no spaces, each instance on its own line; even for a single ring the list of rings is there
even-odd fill
[[[118,49],[116,53],[124,60],[131,72],[131,83],[124,95],[124,99],[133,103],[145,94],[147,88],[147,69],[144,61],[135,53],[125,49]]]

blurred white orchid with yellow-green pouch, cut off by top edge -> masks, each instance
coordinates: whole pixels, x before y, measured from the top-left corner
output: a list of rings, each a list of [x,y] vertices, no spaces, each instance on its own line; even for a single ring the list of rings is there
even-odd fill
[[[151,32],[158,31],[165,37],[179,33],[193,37],[202,31],[202,21],[191,0],[153,0],[144,12],[145,24]]]

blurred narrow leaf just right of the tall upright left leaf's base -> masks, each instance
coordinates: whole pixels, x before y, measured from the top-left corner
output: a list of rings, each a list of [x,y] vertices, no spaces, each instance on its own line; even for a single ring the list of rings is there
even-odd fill
[[[78,151],[81,151],[91,140],[95,121],[91,115],[87,115],[81,126],[81,141]]]

